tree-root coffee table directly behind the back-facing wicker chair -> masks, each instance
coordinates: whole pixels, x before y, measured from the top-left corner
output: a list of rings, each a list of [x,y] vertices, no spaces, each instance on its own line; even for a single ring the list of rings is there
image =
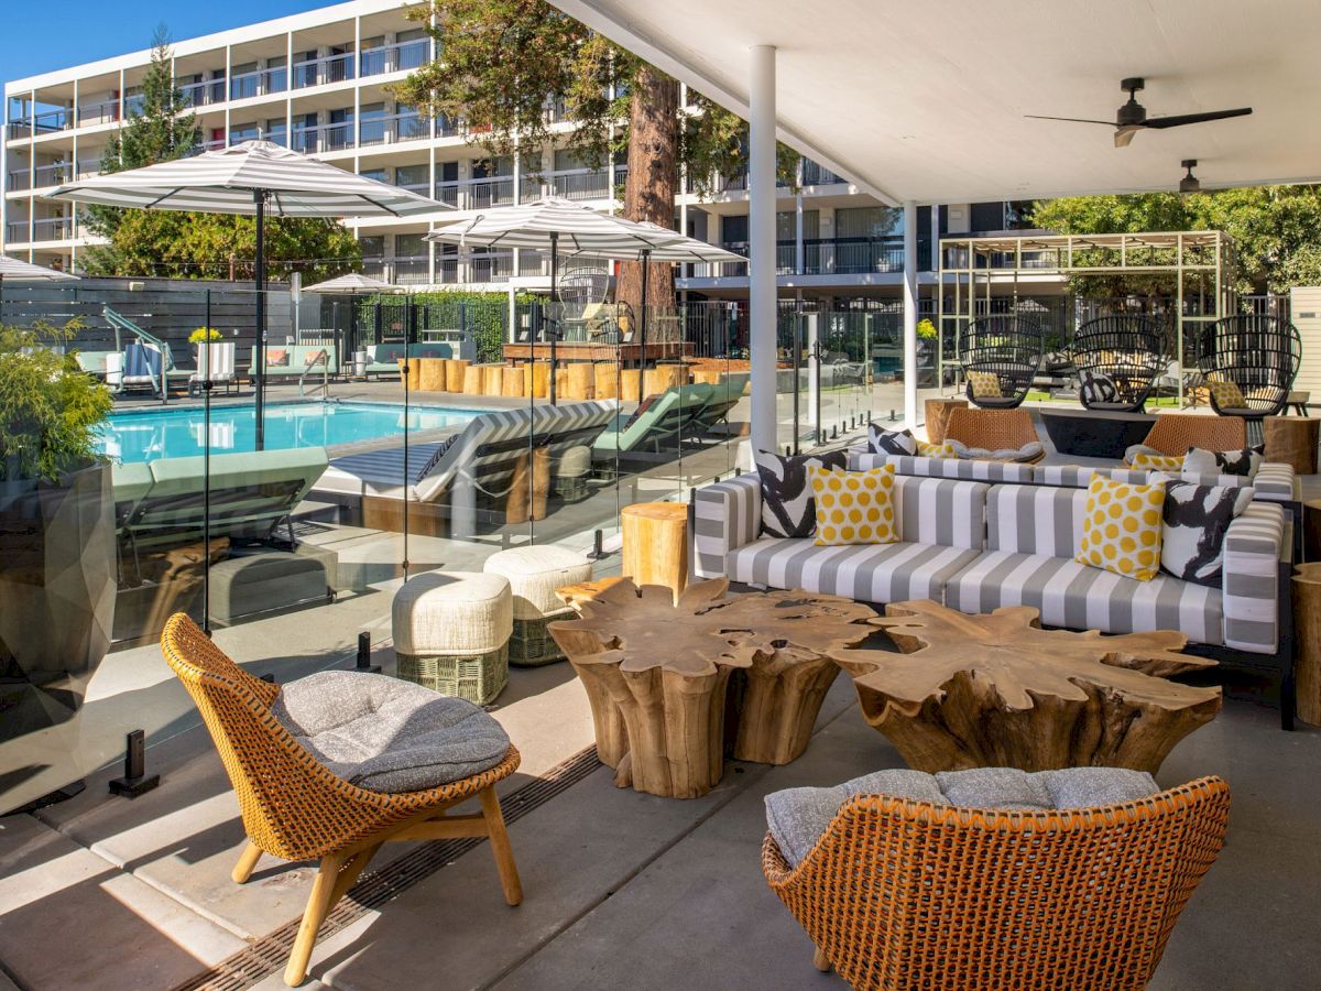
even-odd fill
[[[1045,630],[1016,605],[982,616],[930,600],[869,621],[902,651],[835,650],[868,723],[917,770],[1102,765],[1155,772],[1210,721],[1221,690],[1166,675],[1214,661],[1181,654],[1182,633]]]

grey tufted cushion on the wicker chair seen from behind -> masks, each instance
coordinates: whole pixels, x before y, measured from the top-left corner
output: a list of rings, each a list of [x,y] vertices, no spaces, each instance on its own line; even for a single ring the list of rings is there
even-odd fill
[[[889,795],[967,809],[1048,811],[1120,805],[1160,791],[1144,770],[1067,768],[1029,774],[1016,768],[975,768],[926,774],[877,770],[834,788],[790,788],[766,795],[766,826],[790,867],[826,834],[852,795]]]

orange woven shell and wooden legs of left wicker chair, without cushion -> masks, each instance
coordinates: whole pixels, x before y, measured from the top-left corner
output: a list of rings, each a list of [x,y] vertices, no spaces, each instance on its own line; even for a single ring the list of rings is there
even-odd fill
[[[239,799],[248,846],[232,877],[243,884],[263,852],[285,860],[320,860],[284,980],[306,976],[317,929],[382,843],[487,836],[505,900],[523,891],[501,814],[495,782],[513,774],[513,747],[490,770],[425,791],[383,794],[350,785],[322,766],[272,715],[280,688],[254,678],[217,647],[188,616],[177,613],[161,637],[165,661],[197,704]],[[445,815],[469,798],[481,814]]]

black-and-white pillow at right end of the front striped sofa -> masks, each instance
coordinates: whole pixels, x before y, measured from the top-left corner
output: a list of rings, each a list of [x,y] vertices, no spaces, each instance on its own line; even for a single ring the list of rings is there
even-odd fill
[[[1161,526],[1161,571],[1184,581],[1219,588],[1225,534],[1234,517],[1251,505],[1252,494],[1250,488],[1169,482]]]

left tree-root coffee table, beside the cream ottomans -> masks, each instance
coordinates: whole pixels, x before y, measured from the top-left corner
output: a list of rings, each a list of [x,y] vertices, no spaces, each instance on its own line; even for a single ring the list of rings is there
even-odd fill
[[[550,625],[587,688],[597,753],[620,788],[668,798],[715,788],[727,704],[734,760],[799,757],[839,674],[830,653],[861,643],[876,616],[835,596],[727,597],[728,588],[699,581],[675,601],[668,588],[625,579],[575,593],[580,618]]]

